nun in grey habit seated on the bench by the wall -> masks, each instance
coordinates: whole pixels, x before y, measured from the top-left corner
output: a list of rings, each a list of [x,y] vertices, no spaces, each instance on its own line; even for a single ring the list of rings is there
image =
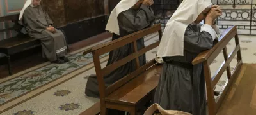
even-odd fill
[[[53,22],[40,6],[40,2],[41,0],[27,0],[20,11],[19,20],[22,20],[30,37],[41,41],[43,57],[57,64],[68,62],[68,58],[65,57],[65,36],[52,26]]]

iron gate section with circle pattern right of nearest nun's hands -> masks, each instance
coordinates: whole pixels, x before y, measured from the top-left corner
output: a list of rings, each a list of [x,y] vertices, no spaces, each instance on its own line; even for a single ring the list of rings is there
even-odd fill
[[[237,25],[238,34],[256,35],[256,0],[212,0],[223,9],[218,18],[220,29]]]

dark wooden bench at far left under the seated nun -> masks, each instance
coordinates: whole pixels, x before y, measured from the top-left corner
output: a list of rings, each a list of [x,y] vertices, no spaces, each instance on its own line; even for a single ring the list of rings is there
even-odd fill
[[[28,34],[22,34],[21,32],[22,25],[18,23],[19,14],[0,17],[0,22],[14,23],[12,27],[0,30],[0,33],[10,32],[11,30],[15,30],[16,32],[18,32],[17,36],[3,39],[0,41],[0,53],[4,53],[6,55],[8,60],[8,71],[9,71],[9,74],[11,75],[12,67],[11,67],[10,56],[24,50],[29,50],[31,48],[41,46],[41,44],[40,44],[40,41],[29,37]]]

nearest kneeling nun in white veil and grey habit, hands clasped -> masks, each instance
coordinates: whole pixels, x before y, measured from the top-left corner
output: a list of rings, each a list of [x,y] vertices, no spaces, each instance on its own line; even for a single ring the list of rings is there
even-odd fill
[[[221,14],[220,6],[212,5],[211,0],[183,0],[167,22],[157,53],[164,64],[154,97],[163,109],[206,114],[202,64],[191,62],[218,39],[221,32],[214,20]]]

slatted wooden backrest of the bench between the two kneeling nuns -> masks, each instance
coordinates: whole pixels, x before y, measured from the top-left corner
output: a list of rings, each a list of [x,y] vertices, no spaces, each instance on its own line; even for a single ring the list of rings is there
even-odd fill
[[[158,32],[159,41],[156,41],[155,43],[152,43],[148,46],[145,46],[145,48],[138,51],[137,40],[140,39],[141,37],[148,36],[155,32]],[[84,55],[87,53],[90,53],[90,52],[92,52],[92,54],[93,54],[93,62],[95,65],[97,81],[99,82],[100,98],[107,97],[110,93],[112,93],[116,89],[120,88],[121,86],[125,85],[125,83],[127,83],[134,77],[138,76],[141,72],[145,71],[152,65],[156,64],[156,62],[154,60],[151,60],[150,62],[147,62],[147,64],[140,67],[139,57],[140,57],[140,55],[147,53],[147,51],[150,51],[150,50],[156,48],[157,46],[159,46],[161,36],[162,36],[161,25],[156,24],[156,25],[153,25],[152,27],[148,27],[147,29],[140,30],[133,34],[129,34],[127,36],[115,39],[109,43],[100,44],[98,46],[90,48],[89,50],[84,51]],[[133,49],[134,49],[133,53],[131,53],[127,57],[124,57],[124,58],[114,62],[113,64],[110,64],[103,68],[101,67],[100,58],[99,58],[100,55],[103,55],[105,53],[108,53],[109,51],[113,51],[117,48],[120,48],[120,47],[125,46],[126,44],[130,44],[130,43],[133,44],[132,45]],[[124,78],[116,81],[112,85],[108,86],[108,88],[105,88],[104,76],[108,75],[110,72],[114,71],[118,67],[121,67],[122,65],[124,65],[127,62],[130,62],[132,60],[136,60],[136,70],[134,72],[132,72],[131,74],[124,76]]]

